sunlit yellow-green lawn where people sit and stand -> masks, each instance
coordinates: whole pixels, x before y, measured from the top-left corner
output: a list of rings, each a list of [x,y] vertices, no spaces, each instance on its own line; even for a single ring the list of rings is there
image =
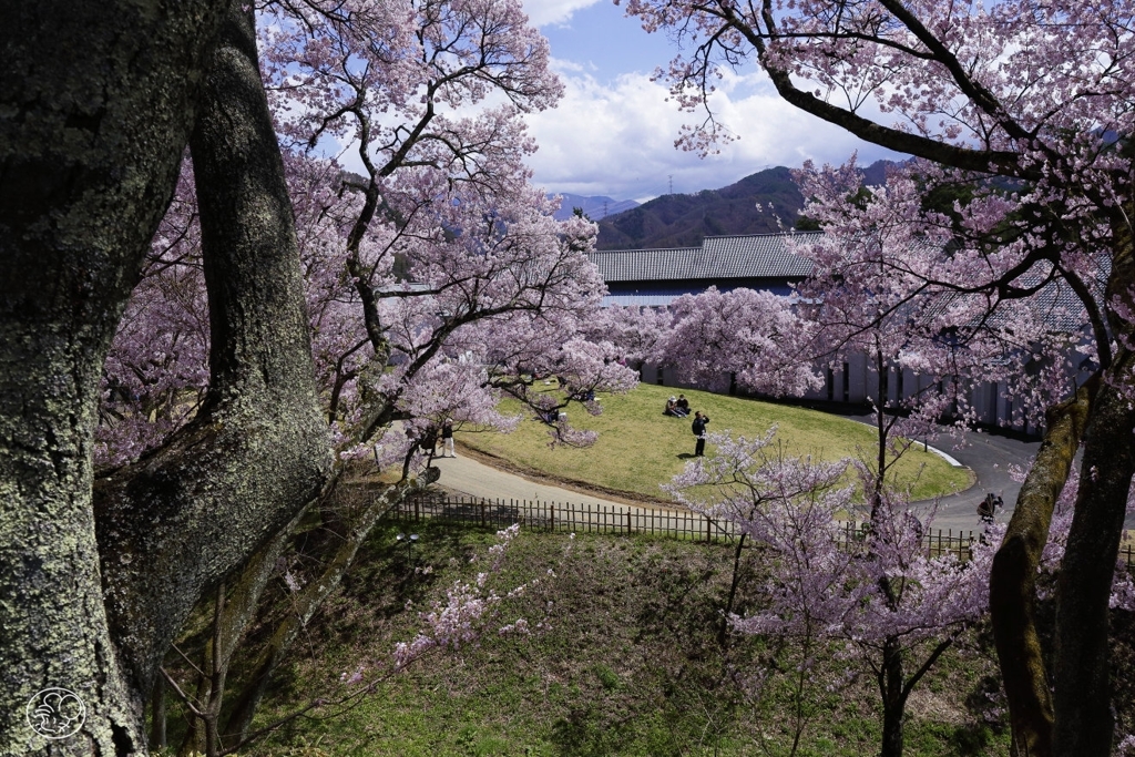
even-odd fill
[[[874,459],[875,431],[835,415],[801,407],[755,399],[729,397],[708,392],[684,389],[692,410],[709,415],[711,431],[731,431],[734,436],[763,436],[776,423],[779,437],[799,455],[823,460],[842,456]],[[641,384],[621,396],[604,396],[602,415],[591,417],[579,406],[568,409],[573,426],[599,432],[599,440],[586,449],[550,448],[548,429],[531,419],[521,422],[513,434],[459,432],[457,439],[474,449],[494,455],[522,470],[550,476],[568,482],[624,491],[632,497],[666,498],[659,488],[681,472],[693,454],[692,419],[663,415],[666,398],[676,396],[673,387]],[[520,412],[515,402],[503,405],[506,412]],[[713,453],[713,447],[706,449]],[[914,483],[916,499],[949,494],[969,485],[966,469],[953,468],[933,453],[911,449],[897,465],[900,486]]]

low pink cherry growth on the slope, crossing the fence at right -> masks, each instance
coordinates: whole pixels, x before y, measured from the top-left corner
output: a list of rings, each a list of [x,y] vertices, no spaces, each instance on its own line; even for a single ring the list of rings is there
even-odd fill
[[[867,490],[882,491],[876,519],[864,544],[849,542],[836,520],[852,506],[849,461],[794,457],[775,434],[774,427],[757,439],[711,435],[716,454],[687,463],[669,489],[693,512],[733,523],[739,550],[746,538],[763,548],[766,604],[732,615],[733,629],[797,639],[801,675],[821,644],[844,644],[878,685],[881,754],[898,757],[910,692],[987,611],[992,547],[976,547],[965,563],[932,556],[923,535],[933,511],[919,515],[905,497],[869,481]],[[793,752],[801,732],[802,725]]]

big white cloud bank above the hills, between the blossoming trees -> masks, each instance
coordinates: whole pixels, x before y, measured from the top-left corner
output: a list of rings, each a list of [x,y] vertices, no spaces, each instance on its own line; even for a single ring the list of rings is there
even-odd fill
[[[540,145],[529,159],[537,185],[553,192],[646,200],[669,191],[717,188],[771,166],[812,159],[839,163],[859,150],[871,162],[891,153],[784,103],[763,78],[729,75],[714,95],[718,120],[738,140],[699,159],[674,148],[682,124],[704,113],[679,111],[667,90],[641,74],[599,84],[578,66],[557,65],[566,86],[560,107],[527,117]]]

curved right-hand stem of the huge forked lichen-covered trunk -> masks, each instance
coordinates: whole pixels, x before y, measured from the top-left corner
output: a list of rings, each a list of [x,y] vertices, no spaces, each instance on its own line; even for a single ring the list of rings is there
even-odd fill
[[[292,204],[242,5],[222,25],[190,142],[210,394],[185,429],[96,488],[107,608],[143,690],[202,592],[319,495],[331,462]]]

